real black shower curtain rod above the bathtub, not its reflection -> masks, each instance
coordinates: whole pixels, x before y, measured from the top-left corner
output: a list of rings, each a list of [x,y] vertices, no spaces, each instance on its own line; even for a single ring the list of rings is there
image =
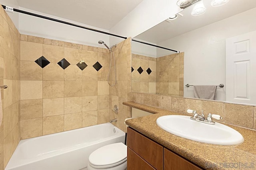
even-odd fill
[[[4,9],[6,9],[6,6],[2,5],[2,7]],[[20,12],[22,14],[27,14],[27,15],[30,15],[30,16],[35,16],[35,17],[38,17],[38,18],[43,18],[43,19],[46,19],[46,20],[51,20],[51,21],[55,21],[55,22],[59,22],[59,23],[64,23],[64,24],[67,24],[67,25],[72,25],[74,27],[88,29],[90,31],[95,31],[95,32],[98,32],[98,33],[104,33],[104,34],[107,34],[107,35],[112,35],[112,36],[115,36],[115,37],[127,39],[127,37],[122,37],[120,35],[115,35],[115,34],[112,34],[112,33],[107,33],[107,32],[104,32],[104,31],[100,31],[100,30],[97,30],[97,29],[92,29],[92,28],[84,27],[84,26],[77,25],[77,24],[70,23],[70,22],[66,22],[66,21],[56,20],[54,18],[49,18],[49,17],[46,17],[46,16],[41,16],[41,15],[38,15],[38,14],[34,14],[34,13],[31,13],[31,12],[26,12],[26,11],[18,10],[18,9],[15,9],[15,8],[13,8],[13,11]]]

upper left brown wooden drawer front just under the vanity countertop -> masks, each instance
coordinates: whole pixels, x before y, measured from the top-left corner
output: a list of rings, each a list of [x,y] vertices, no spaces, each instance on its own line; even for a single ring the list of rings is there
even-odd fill
[[[163,170],[164,149],[132,128],[127,128],[127,146],[157,170]]]

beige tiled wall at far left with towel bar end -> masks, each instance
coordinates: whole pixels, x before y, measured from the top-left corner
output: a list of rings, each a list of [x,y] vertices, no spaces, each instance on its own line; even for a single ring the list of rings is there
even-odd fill
[[[3,121],[0,127],[0,170],[20,141],[20,33],[0,8],[0,86]]]

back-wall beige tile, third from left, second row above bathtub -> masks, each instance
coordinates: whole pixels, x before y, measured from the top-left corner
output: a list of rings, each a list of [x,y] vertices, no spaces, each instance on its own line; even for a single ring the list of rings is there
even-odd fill
[[[82,97],[64,98],[64,114],[82,112]]]

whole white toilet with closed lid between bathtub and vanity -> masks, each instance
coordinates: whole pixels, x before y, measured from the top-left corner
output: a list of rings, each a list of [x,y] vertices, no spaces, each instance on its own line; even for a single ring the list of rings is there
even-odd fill
[[[126,170],[127,146],[113,143],[94,150],[89,156],[88,170]]]

